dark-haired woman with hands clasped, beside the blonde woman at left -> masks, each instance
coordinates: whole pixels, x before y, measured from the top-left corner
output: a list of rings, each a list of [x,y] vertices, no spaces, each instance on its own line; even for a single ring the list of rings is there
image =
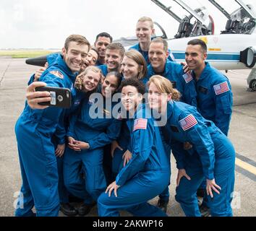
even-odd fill
[[[111,116],[115,105],[111,103],[111,95],[116,92],[120,83],[121,75],[109,72],[101,85],[101,93],[84,100],[80,110],[69,121],[69,147],[64,153],[64,184],[72,195],[85,199],[80,215],[84,215],[106,189],[103,154],[104,147],[117,139],[121,129],[121,120],[117,116]],[[97,113],[97,118],[92,118],[93,113]],[[85,173],[82,183],[79,183],[80,165]]]

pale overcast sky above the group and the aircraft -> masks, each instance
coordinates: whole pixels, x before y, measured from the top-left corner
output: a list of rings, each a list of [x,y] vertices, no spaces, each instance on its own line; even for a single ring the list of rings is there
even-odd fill
[[[205,5],[216,32],[224,30],[226,17],[207,0],[185,1],[192,8]],[[161,2],[184,16],[185,11],[173,0]],[[256,9],[255,0],[245,2]],[[228,6],[229,13],[237,8],[234,0],[226,0],[222,6]],[[99,32],[108,32],[114,39],[134,36],[142,16],[158,22],[168,38],[178,30],[179,23],[150,0],[1,0],[0,48],[62,48],[71,34],[85,35],[90,43]]]

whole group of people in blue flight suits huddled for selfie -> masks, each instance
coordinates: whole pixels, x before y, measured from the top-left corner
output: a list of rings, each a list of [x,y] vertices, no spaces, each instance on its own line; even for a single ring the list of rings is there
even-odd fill
[[[139,19],[137,47],[148,51],[148,66],[140,49],[125,51],[120,43],[105,49],[104,41],[111,39],[107,33],[95,42],[103,43],[101,55],[85,37],[70,35],[62,53],[48,56],[48,66],[30,78],[25,109],[15,126],[22,173],[16,216],[35,215],[33,206],[37,216],[58,216],[70,195],[83,203],[61,210],[69,216],[88,214],[95,203],[99,216],[118,216],[119,210],[166,216],[171,152],[179,169],[175,198],[184,214],[201,215],[196,195],[202,187],[212,216],[232,215],[229,79],[205,62],[202,40],[187,45],[191,73],[186,73],[169,60],[166,40],[151,40],[152,34],[148,17]],[[104,52],[105,64],[101,58],[103,65],[93,66]],[[46,84],[69,88],[72,108],[38,105],[51,100],[48,92],[35,92]],[[114,102],[117,92],[121,97]],[[113,113],[118,104],[121,114]],[[104,161],[106,156],[110,158]],[[106,165],[111,175],[103,170]],[[158,206],[148,204],[155,196]]]

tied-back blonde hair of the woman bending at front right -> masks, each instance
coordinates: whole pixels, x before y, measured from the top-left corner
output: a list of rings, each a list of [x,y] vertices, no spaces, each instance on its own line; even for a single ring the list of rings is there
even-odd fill
[[[153,75],[148,81],[148,87],[153,83],[161,93],[171,94],[171,99],[179,101],[181,93],[172,87],[171,81],[161,75]]]

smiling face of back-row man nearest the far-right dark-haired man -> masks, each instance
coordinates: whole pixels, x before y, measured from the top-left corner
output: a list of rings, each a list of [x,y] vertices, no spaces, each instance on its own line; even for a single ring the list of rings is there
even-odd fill
[[[162,72],[166,65],[168,51],[164,51],[163,43],[151,43],[148,51],[150,64],[155,72]]]

